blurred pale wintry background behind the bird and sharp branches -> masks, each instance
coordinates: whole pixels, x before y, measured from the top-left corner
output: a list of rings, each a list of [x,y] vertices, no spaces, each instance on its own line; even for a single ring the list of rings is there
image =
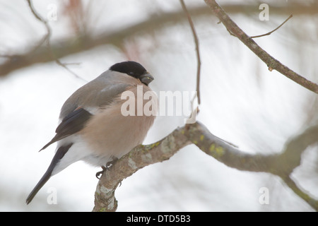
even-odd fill
[[[280,29],[255,41],[271,56],[318,83],[318,1],[218,1],[248,35]],[[316,125],[317,95],[269,71],[218,23],[204,1],[185,0],[201,50],[198,120],[248,153],[279,153]],[[77,88],[119,61],[139,61],[160,91],[196,89],[193,35],[175,0],[34,0],[51,35],[27,1],[0,0],[0,210],[90,211],[100,168],[76,162],[52,177],[32,203],[25,198],[49,166],[55,145],[38,153],[57,126],[59,110]],[[52,56],[66,66],[57,64]],[[158,117],[144,143],[182,126],[184,117]],[[318,198],[317,145],[302,154],[295,182]],[[261,188],[269,203],[261,204]],[[50,205],[50,191],[57,204]],[[266,173],[232,169],[189,145],[170,160],[144,167],[117,188],[118,211],[313,211]]]

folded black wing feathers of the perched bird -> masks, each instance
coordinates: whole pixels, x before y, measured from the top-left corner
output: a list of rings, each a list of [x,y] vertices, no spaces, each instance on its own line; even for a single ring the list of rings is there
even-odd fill
[[[66,117],[64,117],[64,119],[62,119],[61,123],[55,130],[57,134],[54,136],[54,138],[52,138],[51,141],[49,141],[49,143],[41,148],[41,150],[47,148],[56,141],[66,138],[66,136],[77,133],[83,129],[88,119],[90,119],[92,116],[93,114],[90,114],[90,112],[86,111],[86,109],[83,109],[82,107],[76,108],[73,112],[69,113],[66,115]]]

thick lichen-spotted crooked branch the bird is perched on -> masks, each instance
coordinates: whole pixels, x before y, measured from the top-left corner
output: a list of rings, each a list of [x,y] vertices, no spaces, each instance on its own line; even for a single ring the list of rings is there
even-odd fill
[[[295,194],[303,198],[315,210],[318,201],[301,191],[290,179],[290,172],[300,165],[300,157],[308,145],[317,142],[318,126],[307,129],[302,135],[295,137],[286,144],[280,154],[261,155],[244,153],[234,146],[214,136],[206,127],[196,122],[175,129],[161,141],[151,145],[139,145],[127,155],[107,169],[100,178],[95,193],[95,207],[93,211],[114,211],[117,201],[114,191],[118,184],[137,170],[156,162],[168,160],[172,155],[186,145],[194,143],[206,154],[229,167],[250,172],[269,172],[283,179]],[[296,145],[296,143],[300,143]],[[288,164],[291,161],[290,164]]]

